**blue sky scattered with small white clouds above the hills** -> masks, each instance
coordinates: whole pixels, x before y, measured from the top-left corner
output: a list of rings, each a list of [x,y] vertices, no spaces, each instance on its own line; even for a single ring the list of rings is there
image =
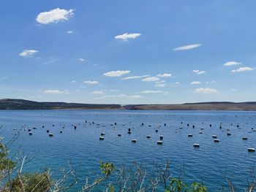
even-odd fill
[[[255,9],[255,0],[3,0],[0,98],[256,101]]]

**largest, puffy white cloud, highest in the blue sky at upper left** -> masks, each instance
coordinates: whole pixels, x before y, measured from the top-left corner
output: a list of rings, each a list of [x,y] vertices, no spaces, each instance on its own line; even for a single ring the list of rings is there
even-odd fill
[[[40,12],[37,15],[37,22],[41,24],[58,23],[61,20],[69,20],[74,14],[73,9],[52,9],[49,12]]]

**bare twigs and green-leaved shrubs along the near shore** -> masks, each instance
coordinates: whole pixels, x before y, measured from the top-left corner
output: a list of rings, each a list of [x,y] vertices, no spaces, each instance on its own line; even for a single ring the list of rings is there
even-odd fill
[[[18,132],[20,133],[20,131]],[[30,160],[18,153],[10,157],[10,146],[18,138],[19,134],[4,144],[0,140],[0,191],[4,192],[59,192],[74,191],[72,187],[78,183],[78,175],[72,165],[68,170],[63,170],[59,179],[53,177],[50,170],[44,172],[23,173],[23,166]],[[165,191],[165,192],[205,192],[208,188],[203,182],[194,182],[190,185],[184,183],[184,169],[179,177],[173,177],[170,173],[170,161],[164,166],[155,164],[151,172],[144,169],[143,164],[133,164],[128,167],[115,167],[108,162],[101,162],[99,172],[91,177],[86,177],[80,192],[86,191],[120,191],[120,192],[143,192],[143,191]],[[222,191],[236,191],[233,183],[227,180],[227,188]],[[252,181],[248,182],[246,192],[252,192],[256,187],[255,174],[252,172]]]

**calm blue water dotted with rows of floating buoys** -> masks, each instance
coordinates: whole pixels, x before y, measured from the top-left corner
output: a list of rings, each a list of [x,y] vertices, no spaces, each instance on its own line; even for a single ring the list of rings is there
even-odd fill
[[[94,124],[85,123],[86,120],[94,121]],[[115,122],[116,126],[110,126]],[[140,126],[141,123],[144,126]],[[237,123],[240,128],[237,128]],[[13,145],[15,149],[21,148],[28,157],[34,157],[24,167],[25,171],[48,167],[53,174],[59,174],[71,161],[83,179],[86,174],[99,169],[99,161],[111,161],[119,166],[135,161],[153,165],[153,161],[165,163],[170,160],[173,176],[180,174],[184,164],[187,182],[203,178],[210,191],[218,191],[222,185],[227,185],[223,177],[226,172],[236,189],[242,191],[246,180],[250,179],[250,169],[256,165],[256,153],[247,151],[248,147],[256,147],[256,131],[252,131],[256,128],[256,112],[0,111],[0,125],[3,126],[0,135],[6,141],[15,134],[14,128],[25,124],[27,128],[37,127],[32,129],[32,136],[23,131]],[[72,124],[78,128],[75,130]],[[158,126],[161,128],[156,133]],[[132,129],[130,135],[127,134],[128,128]],[[227,136],[227,128],[231,136]],[[54,134],[53,137],[48,137],[47,129]],[[200,131],[203,134],[199,134]],[[102,132],[105,132],[105,140],[99,141]],[[121,137],[117,136],[119,133]],[[146,139],[147,134],[151,139]],[[188,134],[193,134],[193,137],[189,138]],[[214,142],[212,134],[217,135],[219,143]],[[164,137],[163,145],[157,145],[160,135]],[[248,137],[248,140],[244,141],[242,137]],[[138,142],[132,143],[132,139]],[[200,143],[199,149],[193,147],[195,142]],[[82,184],[78,183],[70,191],[78,191]]]

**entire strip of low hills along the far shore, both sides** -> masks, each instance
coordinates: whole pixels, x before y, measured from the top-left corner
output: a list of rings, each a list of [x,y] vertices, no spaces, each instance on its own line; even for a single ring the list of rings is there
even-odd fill
[[[256,111],[256,102],[202,102],[186,104],[78,104],[0,99],[0,110],[227,110]]]

